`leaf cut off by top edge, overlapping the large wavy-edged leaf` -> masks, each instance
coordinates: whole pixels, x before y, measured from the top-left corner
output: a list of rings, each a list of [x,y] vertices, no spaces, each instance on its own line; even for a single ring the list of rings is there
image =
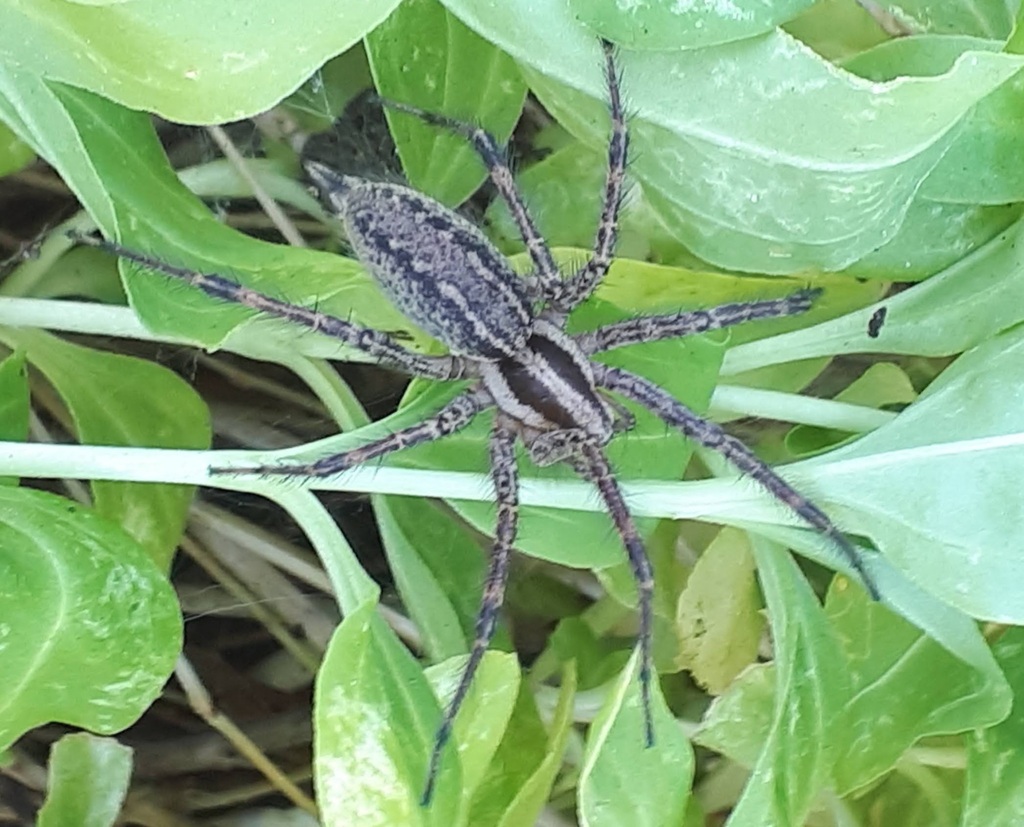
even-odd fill
[[[814,0],[771,3],[672,3],[570,0],[573,13],[601,37],[631,49],[700,48],[760,35]],[[745,8],[743,7],[745,5]]]

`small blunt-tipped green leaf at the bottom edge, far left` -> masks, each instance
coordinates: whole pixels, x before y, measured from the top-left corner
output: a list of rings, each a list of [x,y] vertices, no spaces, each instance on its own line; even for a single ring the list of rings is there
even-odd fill
[[[50,750],[46,802],[39,827],[110,827],[131,779],[131,749],[113,738],[66,735]]]

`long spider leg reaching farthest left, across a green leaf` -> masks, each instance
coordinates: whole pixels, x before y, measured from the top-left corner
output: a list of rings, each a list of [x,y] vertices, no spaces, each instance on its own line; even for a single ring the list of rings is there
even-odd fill
[[[465,360],[458,356],[422,356],[407,350],[386,333],[353,324],[351,321],[345,321],[318,310],[289,304],[281,299],[265,296],[222,275],[196,272],[185,267],[175,267],[173,264],[167,264],[144,253],[129,250],[114,242],[92,235],[75,233],[72,237],[80,244],[95,247],[139,264],[146,269],[156,270],[163,275],[184,281],[203,291],[207,296],[240,304],[267,315],[294,321],[296,324],[301,324],[312,331],[318,331],[407,374],[447,380],[460,379],[471,373]]]

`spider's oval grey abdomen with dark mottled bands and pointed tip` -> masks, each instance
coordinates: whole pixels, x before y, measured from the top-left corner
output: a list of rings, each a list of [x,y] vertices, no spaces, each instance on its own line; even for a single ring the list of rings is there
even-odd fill
[[[523,348],[534,322],[526,282],[479,229],[408,187],[307,170],[410,319],[455,353],[499,359]]]

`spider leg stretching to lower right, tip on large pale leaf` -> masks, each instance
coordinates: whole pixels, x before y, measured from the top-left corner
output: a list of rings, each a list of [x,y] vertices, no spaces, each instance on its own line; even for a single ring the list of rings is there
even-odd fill
[[[868,573],[863,556],[843,535],[821,509],[796,490],[763,463],[742,442],[727,434],[720,426],[698,417],[678,399],[642,377],[617,367],[594,363],[597,385],[639,402],[668,425],[678,428],[690,439],[721,453],[742,473],[749,474],[776,499],[795,511],[806,523],[833,541],[847,562],[860,576],[867,593],[879,600],[879,587]]]

